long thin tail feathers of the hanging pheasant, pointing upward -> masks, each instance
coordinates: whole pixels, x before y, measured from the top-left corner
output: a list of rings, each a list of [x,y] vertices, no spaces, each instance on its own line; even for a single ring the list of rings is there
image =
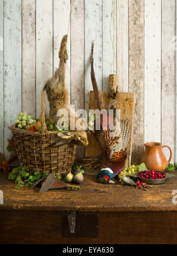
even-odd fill
[[[97,109],[101,111],[102,109],[102,103],[100,99],[100,93],[99,93],[99,88],[97,86],[96,78],[94,75],[94,68],[93,68],[93,48],[94,48],[94,43],[91,43],[91,83],[93,86],[93,91],[94,91],[94,99],[96,101]]]

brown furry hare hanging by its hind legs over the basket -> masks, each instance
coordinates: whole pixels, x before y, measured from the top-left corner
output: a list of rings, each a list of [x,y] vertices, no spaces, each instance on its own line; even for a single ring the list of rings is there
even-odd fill
[[[58,110],[65,109],[68,112],[68,124],[70,124],[71,118],[74,118],[74,122],[76,123],[78,117],[75,112],[73,112],[73,109],[71,109],[71,105],[68,102],[68,90],[65,86],[65,63],[68,59],[67,35],[64,35],[61,41],[58,56],[60,59],[58,69],[55,71],[53,77],[48,79],[44,87],[50,104],[50,119],[56,124],[60,118],[57,117]],[[70,115],[70,112],[72,112],[72,115]],[[71,133],[73,135],[71,137],[68,136],[68,139],[72,138],[72,140],[75,140],[84,146],[88,145],[87,133],[84,129],[81,129],[81,131],[72,131]]]

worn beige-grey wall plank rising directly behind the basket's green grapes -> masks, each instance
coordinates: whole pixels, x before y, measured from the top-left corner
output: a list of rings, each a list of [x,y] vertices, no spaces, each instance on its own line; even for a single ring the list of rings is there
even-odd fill
[[[35,116],[35,0],[22,0],[22,111]]]

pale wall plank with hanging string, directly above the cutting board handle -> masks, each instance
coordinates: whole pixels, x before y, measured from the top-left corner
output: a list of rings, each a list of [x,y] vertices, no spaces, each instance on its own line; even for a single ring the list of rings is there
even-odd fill
[[[109,74],[116,73],[116,0],[113,0],[114,14],[112,15],[112,1],[103,0],[103,90],[109,88]],[[113,25],[114,19],[114,25]],[[110,24],[111,22],[111,24]],[[110,31],[112,40],[110,38]],[[114,51],[113,51],[114,47]],[[115,53],[114,53],[115,52]]]

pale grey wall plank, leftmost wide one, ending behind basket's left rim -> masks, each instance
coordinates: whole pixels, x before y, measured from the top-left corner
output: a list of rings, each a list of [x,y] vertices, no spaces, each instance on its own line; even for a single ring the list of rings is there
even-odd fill
[[[4,152],[8,127],[21,112],[21,0],[4,3]]]

